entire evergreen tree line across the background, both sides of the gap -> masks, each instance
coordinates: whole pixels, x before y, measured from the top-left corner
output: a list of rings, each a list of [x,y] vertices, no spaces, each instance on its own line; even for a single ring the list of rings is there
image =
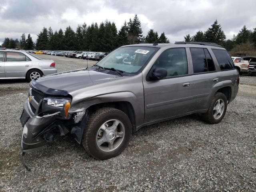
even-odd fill
[[[226,35],[215,20],[208,30],[202,32],[199,30],[193,36],[187,34],[184,41],[191,42],[213,42],[222,45],[228,51],[239,52],[240,50],[251,51],[256,47],[256,28],[249,30],[246,26],[233,36],[232,39],[226,39]],[[78,24],[76,31],[70,26],[63,31],[61,28],[53,32],[52,28],[44,27],[37,35],[35,44],[28,34],[26,38],[23,33],[18,39],[5,38],[2,46],[6,48],[19,49],[37,49],[37,50],[90,50],[110,52],[118,46],[136,44],[140,42],[148,43],[169,43],[165,33],[150,29],[146,36],[142,36],[142,27],[140,20],[135,14],[134,18],[124,22],[120,30],[117,30],[116,24],[108,20],[88,25],[86,23]]]

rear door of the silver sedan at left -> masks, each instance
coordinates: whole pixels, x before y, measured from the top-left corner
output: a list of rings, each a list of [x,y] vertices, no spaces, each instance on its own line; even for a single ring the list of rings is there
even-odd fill
[[[5,77],[25,77],[32,61],[21,52],[6,51],[4,62]]]

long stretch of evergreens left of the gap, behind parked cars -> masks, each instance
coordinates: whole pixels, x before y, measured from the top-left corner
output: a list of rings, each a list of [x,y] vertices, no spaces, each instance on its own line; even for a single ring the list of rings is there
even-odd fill
[[[28,39],[31,39],[31,36]],[[33,45],[30,44],[28,39],[25,39],[25,34],[23,33],[20,41],[16,39],[15,44],[12,44],[8,38],[5,38],[2,46],[6,48],[18,47],[26,50],[33,49]],[[34,48],[37,50],[90,50],[110,52],[118,46],[145,41],[153,43],[156,40],[163,43],[169,42],[164,32],[158,37],[158,33],[154,32],[153,29],[149,30],[146,37],[142,37],[141,23],[137,14],[135,14],[134,18],[130,18],[129,22],[124,22],[119,31],[116,28],[116,24],[108,20],[101,22],[99,25],[97,23],[92,23],[89,26],[86,23],[82,25],[78,24],[76,31],[70,26],[65,31],[60,28],[60,30],[56,30],[55,32],[53,32],[51,27],[48,29],[44,27],[37,35]]]

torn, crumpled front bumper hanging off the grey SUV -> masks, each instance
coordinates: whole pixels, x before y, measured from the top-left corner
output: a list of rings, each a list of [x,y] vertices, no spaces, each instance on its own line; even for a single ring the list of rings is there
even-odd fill
[[[27,153],[40,150],[46,146],[47,142],[54,140],[55,136],[64,136],[68,132],[80,144],[88,119],[87,113],[82,113],[83,118],[76,122],[78,113],[71,114],[69,119],[63,120],[61,112],[40,116],[40,114],[33,114],[30,108],[30,102],[26,100],[20,117],[23,127],[21,139],[22,152]]]

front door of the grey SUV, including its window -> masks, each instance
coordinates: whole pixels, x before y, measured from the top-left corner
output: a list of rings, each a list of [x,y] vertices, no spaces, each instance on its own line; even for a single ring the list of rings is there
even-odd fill
[[[188,76],[185,48],[165,50],[152,70],[165,68],[167,77],[162,80],[144,80],[145,122],[152,122],[186,114],[192,110],[194,90]],[[151,70],[151,71],[152,71]]]

